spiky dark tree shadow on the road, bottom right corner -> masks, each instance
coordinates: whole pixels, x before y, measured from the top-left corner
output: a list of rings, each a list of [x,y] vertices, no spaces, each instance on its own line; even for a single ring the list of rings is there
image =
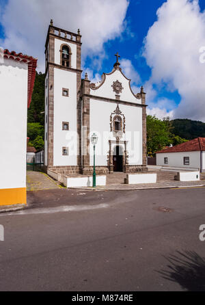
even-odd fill
[[[205,258],[196,252],[176,252],[165,257],[168,269],[157,271],[165,280],[178,282],[187,291],[205,291]]]

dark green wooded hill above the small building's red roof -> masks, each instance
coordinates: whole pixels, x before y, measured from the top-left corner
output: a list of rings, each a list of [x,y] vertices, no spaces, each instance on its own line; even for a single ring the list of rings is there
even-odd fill
[[[196,137],[205,137],[205,123],[188,119],[177,119],[172,121],[174,134],[187,140]]]

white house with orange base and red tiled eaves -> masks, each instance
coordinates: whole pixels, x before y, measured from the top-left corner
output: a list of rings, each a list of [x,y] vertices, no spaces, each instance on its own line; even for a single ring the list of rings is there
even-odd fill
[[[37,59],[0,52],[0,205],[26,204],[27,107]]]

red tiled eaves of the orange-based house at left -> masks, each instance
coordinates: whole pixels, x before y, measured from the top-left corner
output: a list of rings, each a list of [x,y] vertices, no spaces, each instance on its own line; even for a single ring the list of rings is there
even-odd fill
[[[22,53],[16,53],[15,51],[3,50],[3,57],[16,60],[17,62],[24,62],[28,64],[28,108],[31,104],[31,97],[33,93],[33,86],[36,78],[36,66],[38,59],[32,56],[23,55]]]

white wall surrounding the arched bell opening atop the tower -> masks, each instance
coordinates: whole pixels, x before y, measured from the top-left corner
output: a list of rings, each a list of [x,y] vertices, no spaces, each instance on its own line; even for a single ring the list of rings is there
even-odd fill
[[[55,64],[61,64],[61,44],[68,44],[71,49],[71,68],[77,68],[77,44],[55,38]]]

